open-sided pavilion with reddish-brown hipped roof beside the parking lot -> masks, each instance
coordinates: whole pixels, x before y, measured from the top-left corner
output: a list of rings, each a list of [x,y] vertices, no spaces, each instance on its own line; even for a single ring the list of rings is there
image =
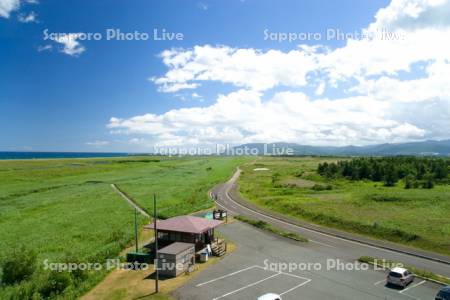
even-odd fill
[[[158,246],[165,247],[175,242],[191,243],[195,251],[200,251],[208,244],[219,241],[214,238],[214,228],[222,224],[219,220],[208,220],[194,216],[178,216],[166,220],[157,220]],[[153,229],[154,224],[145,229]]]

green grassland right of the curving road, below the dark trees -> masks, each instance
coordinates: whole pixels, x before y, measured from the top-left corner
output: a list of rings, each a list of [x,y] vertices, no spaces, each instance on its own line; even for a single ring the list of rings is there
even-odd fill
[[[405,189],[402,182],[326,179],[318,163],[337,158],[264,157],[242,166],[240,193],[299,219],[450,254],[450,185]],[[267,168],[267,171],[255,171]]]

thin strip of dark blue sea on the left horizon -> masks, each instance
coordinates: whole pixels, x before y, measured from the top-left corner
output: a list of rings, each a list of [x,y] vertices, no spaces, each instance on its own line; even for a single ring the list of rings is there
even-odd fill
[[[128,155],[129,155],[128,153],[118,153],[118,152],[8,152],[8,151],[0,151],[0,160],[121,157],[121,156],[128,156]]]

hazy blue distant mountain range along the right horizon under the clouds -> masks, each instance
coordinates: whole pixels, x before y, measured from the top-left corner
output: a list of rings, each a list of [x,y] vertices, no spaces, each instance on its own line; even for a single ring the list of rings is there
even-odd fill
[[[387,156],[387,155],[437,155],[450,156],[450,140],[423,141],[399,144],[377,144],[370,146],[309,146],[294,143],[252,143],[232,148],[234,153],[246,151],[247,154],[285,155],[292,149],[294,155],[350,155],[350,156]],[[225,153],[226,154],[226,153]]]

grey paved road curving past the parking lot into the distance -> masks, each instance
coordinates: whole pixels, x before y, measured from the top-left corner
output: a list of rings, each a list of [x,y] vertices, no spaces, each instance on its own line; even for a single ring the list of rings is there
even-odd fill
[[[254,219],[259,219],[273,224],[279,228],[299,233],[307,237],[311,244],[314,244],[325,257],[337,257],[343,260],[352,261],[363,255],[385,258],[393,261],[402,262],[407,265],[412,265],[421,269],[427,269],[437,274],[441,274],[450,277],[450,258],[442,255],[435,255],[438,259],[448,261],[438,262],[436,260],[429,260],[415,255],[409,255],[402,252],[397,252],[393,250],[388,250],[384,248],[379,248],[352,240],[347,240],[344,238],[336,237],[333,235],[324,234],[311,230],[302,226],[293,225],[291,223],[283,222],[279,219],[267,216],[260,212],[256,212],[254,208],[249,209],[248,207],[242,205],[242,200],[238,200],[235,190],[235,182],[239,177],[239,170],[233,175],[233,177],[225,184],[217,186],[213,189],[212,193],[217,197],[216,203],[219,207],[223,207],[229,211],[231,214],[241,214],[252,217]],[[239,201],[239,202],[238,202]],[[345,235],[345,233],[341,234]],[[232,239],[234,237],[231,237]],[[361,237],[364,239],[364,237]],[[373,241],[373,240],[372,240]],[[376,241],[375,241],[376,242]],[[379,241],[383,243],[382,241]],[[406,249],[401,245],[396,246],[393,243],[387,243],[389,247],[397,247],[398,249]],[[414,251],[413,249],[407,251]],[[424,251],[417,251],[419,254],[425,253]],[[425,255],[434,255],[430,253],[425,253]]]

